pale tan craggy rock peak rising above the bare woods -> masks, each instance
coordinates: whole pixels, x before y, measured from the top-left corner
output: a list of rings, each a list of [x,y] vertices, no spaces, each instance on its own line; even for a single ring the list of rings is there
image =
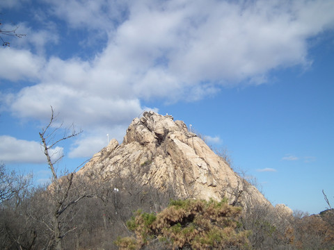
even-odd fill
[[[173,188],[180,198],[227,197],[232,204],[271,206],[263,195],[233,172],[182,121],[145,112],[132,121],[122,144],[111,140],[80,174],[98,172],[104,180],[127,176],[161,192]]]

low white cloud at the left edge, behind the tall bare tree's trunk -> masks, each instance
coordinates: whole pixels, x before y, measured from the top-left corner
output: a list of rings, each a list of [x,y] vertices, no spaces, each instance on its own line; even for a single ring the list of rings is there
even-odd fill
[[[51,159],[56,160],[63,154],[63,148],[56,147],[49,153]],[[40,143],[8,135],[0,135],[0,160],[4,163],[47,163]]]

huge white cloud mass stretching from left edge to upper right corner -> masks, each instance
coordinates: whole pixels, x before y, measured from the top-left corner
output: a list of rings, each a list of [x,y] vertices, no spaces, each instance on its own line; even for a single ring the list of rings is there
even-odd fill
[[[104,140],[99,131],[126,128],[143,100],[195,101],[224,85],[262,84],[278,67],[308,67],[308,40],[334,26],[334,1],[326,0],[44,2],[72,30],[106,32],[108,41],[90,60],[0,50],[1,78],[34,80],[3,100],[17,117],[40,120],[51,105],[90,131],[72,157],[95,153]],[[31,46],[61,42],[48,30],[31,31]]]

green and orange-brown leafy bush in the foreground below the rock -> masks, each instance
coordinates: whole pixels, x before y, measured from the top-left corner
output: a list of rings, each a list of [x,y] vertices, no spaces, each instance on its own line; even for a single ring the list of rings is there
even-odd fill
[[[241,208],[223,200],[171,201],[161,213],[136,212],[127,222],[136,238],[116,240],[120,249],[164,244],[168,249],[248,249],[250,231],[240,231]]]

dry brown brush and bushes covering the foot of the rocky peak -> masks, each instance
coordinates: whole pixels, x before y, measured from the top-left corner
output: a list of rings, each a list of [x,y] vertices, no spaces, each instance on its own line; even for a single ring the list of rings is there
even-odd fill
[[[69,195],[87,192],[86,188],[70,190]],[[62,215],[63,231],[69,232],[61,239],[62,249],[118,249],[114,242],[123,249],[152,250],[334,247],[333,210],[278,217],[263,206],[241,210],[216,201],[191,199],[168,206],[175,198],[173,190],[161,194],[131,178],[89,188],[97,196],[81,199]],[[54,211],[50,190],[27,187],[0,208],[0,249],[55,249],[54,233],[47,224]],[[141,212],[132,217],[138,208]]]

